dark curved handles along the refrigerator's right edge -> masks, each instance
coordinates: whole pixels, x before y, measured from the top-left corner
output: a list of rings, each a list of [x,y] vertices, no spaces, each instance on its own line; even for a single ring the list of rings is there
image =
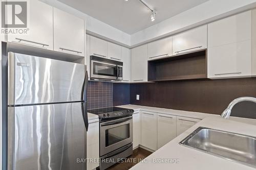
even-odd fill
[[[86,76],[84,77],[82,91],[81,91],[81,109],[84,125],[86,126],[86,131],[88,131],[88,114],[87,114],[87,85],[88,85],[88,72],[86,71]]]

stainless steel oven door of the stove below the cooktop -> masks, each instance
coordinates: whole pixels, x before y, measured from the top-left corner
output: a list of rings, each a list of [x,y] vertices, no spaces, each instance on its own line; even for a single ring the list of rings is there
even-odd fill
[[[133,117],[124,117],[100,124],[100,156],[133,142]]]

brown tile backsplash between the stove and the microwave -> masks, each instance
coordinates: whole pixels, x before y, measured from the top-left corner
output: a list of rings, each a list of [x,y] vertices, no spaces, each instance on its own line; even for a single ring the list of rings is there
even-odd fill
[[[89,81],[88,110],[113,106],[113,83]]]

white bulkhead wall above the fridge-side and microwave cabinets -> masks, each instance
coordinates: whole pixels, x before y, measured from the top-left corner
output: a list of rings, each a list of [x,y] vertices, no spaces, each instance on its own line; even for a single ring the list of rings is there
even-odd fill
[[[131,43],[131,35],[126,34],[98,19],[95,19],[87,14],[84,14],[74,8],[71,8],[57,0],[39,0],[46,4],[49,4],[53,7],[71,13],[77,17],[80,17],[86,20],[86,29],[87,33],[91,35],[97,35],[99,38],[103,38],[105,40],[111,40],[112,42],[118,43],[123,46],[130,46]]]

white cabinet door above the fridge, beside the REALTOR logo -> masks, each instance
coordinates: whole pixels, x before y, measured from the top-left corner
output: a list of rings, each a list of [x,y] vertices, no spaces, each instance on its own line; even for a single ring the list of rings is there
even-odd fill
[[[28,8],[28,34],[8,34],[8,41],[53,50],[53,7],[33,0]]]

